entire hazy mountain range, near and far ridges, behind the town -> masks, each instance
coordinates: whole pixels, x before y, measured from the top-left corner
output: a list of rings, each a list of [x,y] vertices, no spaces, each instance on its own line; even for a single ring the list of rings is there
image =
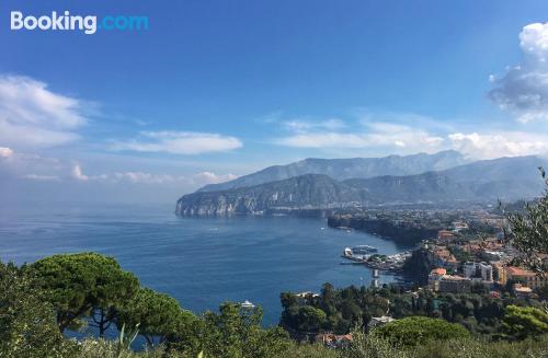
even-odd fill
[[[406,163],[406,159],[410,159],[409,162]],[[459,165],[461,162],[465,159],[454,151],[381,159],[309,159],[271,166],[242,176],[241,181],[208,186],[184,195],[176,204],[176,213],[267,213],[397,204],[478,203],[499,198],[515,200],[540,195],[544,184],[537,168],[548,164],[538,157],[500,158]],[[432,166],[449,168],[433,170]],[[296,171],[297,168],[306,169]],[[415,174],[421,168],[427,170]],[[312,169],[323,173],[305,173],[283,180],[276,176]],[[404,174],[386,174],[393,172]],[[409,172],[414,174],[406,175]],[[266,181],[265,173],[274,173],[272,180]],[[262,183],[248,184],[255,181]]]

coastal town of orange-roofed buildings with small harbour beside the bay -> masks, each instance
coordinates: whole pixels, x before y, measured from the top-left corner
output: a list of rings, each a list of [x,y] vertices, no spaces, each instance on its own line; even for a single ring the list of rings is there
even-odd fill
[[[414,255],[416,261],[422,261],[422,273],[427,274],[427,288],[435,292],[467,293],[472,286],[479,285],[493,296],[500,297],[502,291],[510,291],[520,297],[535,297],[535,290],[548,284],[547,275],[537,275],[513,264],[520,253],[505,240],[505,218],[492,207],[473,210],[369,210],[339,215],[331,220],[342,221],[349,229],[375,228],[390,233],[390,236],[396,235],[389,239],[399,242],[411,240],[413,243],[414,240],[414,250],[392,255],[379,254],[374,247],[366,254],[356,253],[353,250],[356,247],[346,247],[342,256],[373,269],[402,273],[406,263]],[[425,279],[419,277],[418,281],[424,282]]]

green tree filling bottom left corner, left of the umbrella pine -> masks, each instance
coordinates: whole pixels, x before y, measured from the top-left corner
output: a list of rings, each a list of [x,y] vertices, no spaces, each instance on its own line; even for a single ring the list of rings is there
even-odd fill
[[[67,357],[76,347],[57,328],[34,278],[0,263],[0,357]]]

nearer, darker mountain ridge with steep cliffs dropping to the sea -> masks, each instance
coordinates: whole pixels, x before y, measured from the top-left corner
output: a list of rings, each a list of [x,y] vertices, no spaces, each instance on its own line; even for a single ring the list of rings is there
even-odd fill
[[[235,215],[326,210],[356,206],[494,201],[533,198],[544,185],[535,157],[503,158],[407,176],[378,176],[343,182],[307,174],[217,192],[198,190],[179,199],[176,213]],[[411,233],[410,233],[411,234]]]

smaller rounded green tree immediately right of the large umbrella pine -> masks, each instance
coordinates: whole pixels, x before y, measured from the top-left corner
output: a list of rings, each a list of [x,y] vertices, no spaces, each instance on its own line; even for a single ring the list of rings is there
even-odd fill
[[[139,334],[152,347],[155,337],[163,343],[167,337],[183,330],[195,316],[182,310],[174,298],[159,293],[148,288],[140,288],[137,293],[124,304],[117,319],[118,328],[139,326]]]

